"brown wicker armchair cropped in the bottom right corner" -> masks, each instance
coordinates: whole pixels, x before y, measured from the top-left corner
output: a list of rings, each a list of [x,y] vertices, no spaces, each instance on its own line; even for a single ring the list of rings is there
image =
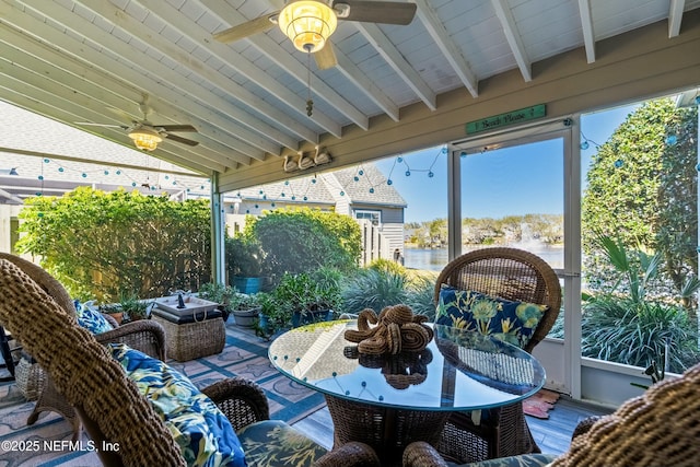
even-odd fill
[[[695,466],[700,456],[698,387],[700,364],[681,377],[656,383],[609,416],[583,420],[561,456],[526,454],[471,466]],[[429,444],[413,443],[404,452],[404,466],[446,467],[447,463]]]

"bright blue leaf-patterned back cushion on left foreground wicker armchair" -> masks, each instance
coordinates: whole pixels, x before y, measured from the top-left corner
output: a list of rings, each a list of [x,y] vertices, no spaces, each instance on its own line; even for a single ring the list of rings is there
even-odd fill
[[[124,343],[112,355],[165,422],[190,466],[246,466],[233,427],[217,405],[184,375]]]

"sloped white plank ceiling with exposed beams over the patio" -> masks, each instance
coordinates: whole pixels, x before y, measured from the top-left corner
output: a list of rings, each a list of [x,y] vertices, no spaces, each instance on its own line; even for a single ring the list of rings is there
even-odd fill
[[[0,0],[0,100],[127,145],[124,128],[84,124],[128,127],[145,108],[156,125],[197,129],[174,133],[196,147],[166,138],[156,157],[207,175],[278,159],[281,168],[285,154],[324,137],[370,131],[372,117],[400,122],[404,107],[434,110],[441,94],[459,87],[476,98],[480,80],[509,70],[528,82],[532,63],[580,47],[593,63],[600,39],[663,20],[670,39],[684,13],[700,7],[408,2],[417,5],[409,25],[340,20],[331,36],[337,65],[322,70],[278,27],[231,44],[212,38],[280,10],[282,0]]]

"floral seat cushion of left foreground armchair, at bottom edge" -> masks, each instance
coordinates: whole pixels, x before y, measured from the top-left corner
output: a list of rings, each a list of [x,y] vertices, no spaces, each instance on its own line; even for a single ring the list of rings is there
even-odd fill
[[[279,420],[250,423],[238,431],[249,465],[311,467],[326,450]]]

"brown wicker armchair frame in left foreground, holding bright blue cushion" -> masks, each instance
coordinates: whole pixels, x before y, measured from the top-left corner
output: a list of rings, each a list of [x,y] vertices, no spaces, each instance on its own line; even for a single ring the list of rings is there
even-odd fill
[[[108,350],[78,326],[74,313],[59,306],[31,277],[4,259],[0,259],[0,290],[3,294],[0,322],[22,341],[48,372],[57,392],[75,408],[104,465],[185,465],[165,423]],[[269,418],[265,393],[254,383],[230,378],[202,392],[236,431]],[[273,430],[284,429],[281,422],[269,423]],[[290,437],[298,442],[303,435],[295,433]],[[118,451],[104,446],[118,446]],[[270,460],[270,466],[284,462]],[[378,466],[378,460],[369,446],[348,443],[325,454],[314,465]]]

